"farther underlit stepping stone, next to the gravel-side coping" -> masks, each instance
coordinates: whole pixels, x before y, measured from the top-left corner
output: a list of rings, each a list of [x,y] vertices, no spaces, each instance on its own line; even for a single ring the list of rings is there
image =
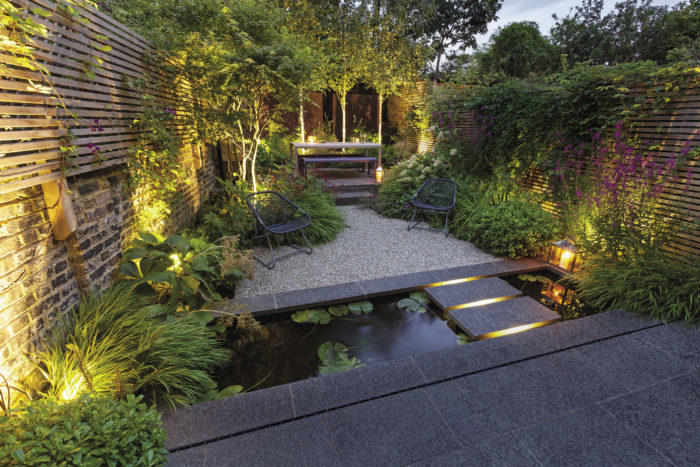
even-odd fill
[[[522,293],[498,277],[487,277],[458,284],[429,287],[425,293],[443,311],[479,305],[484,300],[519,297]]]

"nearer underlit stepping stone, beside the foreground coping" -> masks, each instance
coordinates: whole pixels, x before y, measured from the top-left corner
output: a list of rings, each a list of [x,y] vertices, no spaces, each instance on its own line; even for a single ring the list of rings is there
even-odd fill
[[[559,321],[561,316],[530,297],[450,311],[472,339],[488,339]]]

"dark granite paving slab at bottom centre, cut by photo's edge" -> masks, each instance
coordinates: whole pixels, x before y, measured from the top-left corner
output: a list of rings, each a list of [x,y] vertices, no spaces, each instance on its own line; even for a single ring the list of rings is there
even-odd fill
[[[342,465],[405,465],[460,447],[422,389],[329,413]]]

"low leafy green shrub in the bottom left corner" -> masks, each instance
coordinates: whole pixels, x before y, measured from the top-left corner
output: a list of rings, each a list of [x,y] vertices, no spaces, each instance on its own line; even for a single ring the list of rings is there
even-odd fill
[[[0,458],[4,465],[161,465],[168,452],[160,413],[141,399],[30,401],[0,417]]]

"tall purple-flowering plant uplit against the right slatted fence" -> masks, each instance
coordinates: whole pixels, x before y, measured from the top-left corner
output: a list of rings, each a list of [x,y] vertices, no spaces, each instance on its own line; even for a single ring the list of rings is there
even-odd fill
[[[697,132],[678,152],[666,154],[624,130],[622,122],[610,137],[590,129],[590,143],[562,142],[551,157],[550,199],[584,254],[617,258],[658,248],[688,221],[689,213],[669,217],[658,208],[678,195],[671,193],[673,185],[682,181],[688,191],[691,173],[683,167]]]

